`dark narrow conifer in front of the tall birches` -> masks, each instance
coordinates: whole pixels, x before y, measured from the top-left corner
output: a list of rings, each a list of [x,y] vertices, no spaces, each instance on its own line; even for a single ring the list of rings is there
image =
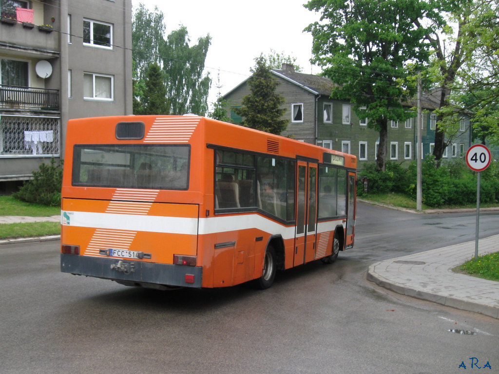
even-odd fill
[[[169,114],[164,73],[157,63],[151,63],[146,72],[143,112],[140,114]]]

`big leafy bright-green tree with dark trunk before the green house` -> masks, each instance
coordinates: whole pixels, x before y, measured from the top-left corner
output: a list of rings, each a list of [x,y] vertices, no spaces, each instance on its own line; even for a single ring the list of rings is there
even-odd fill
[[[305,7],[321,13],[306,28],[313,36],[312,60],[338,85],[331,97],[349,100],[379,132],[376,166],[384,170],[388,121],[413,116],[403,106],[416,92],[405,79],[408,67],[421,69],[429,60],[424,35],[440,17],[423,0],[310,0]],[[426,17],[435,19],[429,29],[414,26]]]

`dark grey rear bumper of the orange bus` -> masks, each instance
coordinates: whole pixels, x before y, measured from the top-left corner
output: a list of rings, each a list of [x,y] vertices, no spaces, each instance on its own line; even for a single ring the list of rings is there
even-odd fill
[[[61,271],[115,280],[123,284],[157,284],[201,288],[203,268],[61,253]]]

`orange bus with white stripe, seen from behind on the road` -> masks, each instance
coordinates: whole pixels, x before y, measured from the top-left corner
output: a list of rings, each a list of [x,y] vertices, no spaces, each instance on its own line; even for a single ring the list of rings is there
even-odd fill
[[[353,246],[355,156],[198,116],[68,121],[61,271],[270,287]]]

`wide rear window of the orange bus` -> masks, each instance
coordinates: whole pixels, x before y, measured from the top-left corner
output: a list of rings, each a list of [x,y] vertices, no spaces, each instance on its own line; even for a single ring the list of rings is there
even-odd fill
[[[189,188],[189,145],[76,145],[73,186]]]

